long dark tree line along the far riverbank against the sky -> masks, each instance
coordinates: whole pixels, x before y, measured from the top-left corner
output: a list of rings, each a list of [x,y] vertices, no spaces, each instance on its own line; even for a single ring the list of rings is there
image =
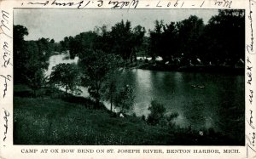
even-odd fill
[[[219,10],[207,24],[191,15],[186,20],[154,21],[154,30],[147,37],[143,26],[131,28],[123,20],[111,27],[96,27],[96,31],[65,37],[62,49],[69,49],[73,57],[86,48],[101,49],[119,54],[127,62],[136,61],[137,54],[157,56],[175,65],[230,65],[244,61],[245,19],[243,10]]]

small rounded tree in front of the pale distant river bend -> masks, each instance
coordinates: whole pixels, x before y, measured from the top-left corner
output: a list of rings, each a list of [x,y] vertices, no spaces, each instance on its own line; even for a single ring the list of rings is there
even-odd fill
[[[77,92],[79,86],[79,69],[74,64],[59,64],[53,67],[49,76],[49,83],[54,83],[58,87],[67,91]]]

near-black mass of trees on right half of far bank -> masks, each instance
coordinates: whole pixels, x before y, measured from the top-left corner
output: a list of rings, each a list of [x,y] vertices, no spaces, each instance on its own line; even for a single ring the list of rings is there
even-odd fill
[[[155,21],[149,54],[178,65],[231,65],[244,61],[245,19],[242,10],[219,10],[208,24],[191,15],[179,22]]]

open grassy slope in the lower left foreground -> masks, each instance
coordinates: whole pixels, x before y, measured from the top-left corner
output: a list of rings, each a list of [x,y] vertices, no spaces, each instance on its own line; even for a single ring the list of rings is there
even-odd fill
[[[168,135],[137,117],[111,117],[49,98],[15,97],[15,144],[166,145]],[[169,141],[170,142],[170,141]]]

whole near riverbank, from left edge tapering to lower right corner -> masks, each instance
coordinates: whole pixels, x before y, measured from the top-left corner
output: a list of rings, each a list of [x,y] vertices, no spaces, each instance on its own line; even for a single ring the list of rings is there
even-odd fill
[[[26,96],[15,87],[15,145],[243,145],[236,139],[190,128],[148,125],[142,117],[91,109],[90,99]],[[17,94],[17,92],[19,92]],[[26,89],[26,93],[29,90]]]

